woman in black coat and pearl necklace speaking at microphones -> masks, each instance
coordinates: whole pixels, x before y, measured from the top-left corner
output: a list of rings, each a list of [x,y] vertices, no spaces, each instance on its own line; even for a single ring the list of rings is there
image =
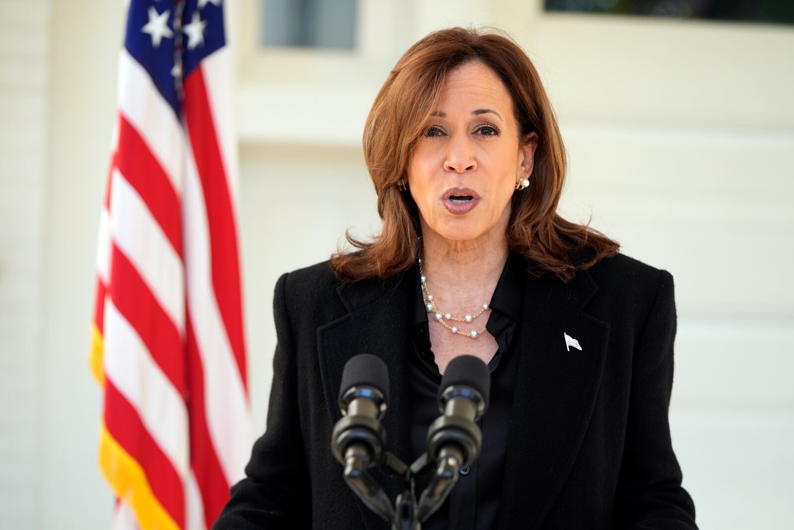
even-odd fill
[[[557,215],[565,150],[521,48],[462,28],[418,41],[364,153],[383,231],[279,278],[267,430],[214,528],[388,528],[330,451],[342,368],[365,352],[389,369],[388,449],[409,463],[449,361],[491,371],[480,457],[422,528],[696,528],[669,435],[673,277]]]

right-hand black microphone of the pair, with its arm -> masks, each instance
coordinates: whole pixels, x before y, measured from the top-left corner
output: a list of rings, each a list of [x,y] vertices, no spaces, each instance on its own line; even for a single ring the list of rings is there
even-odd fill
[[[488,409],[490,393],[491,372],[480,358],[460,355],[449,362],[438,389],[441,416],[427,431],[427,458],[436,469],[419,499],[418,520],[433,515],[455,486],[461,467],[480,455],[483,436],[474,422]]]

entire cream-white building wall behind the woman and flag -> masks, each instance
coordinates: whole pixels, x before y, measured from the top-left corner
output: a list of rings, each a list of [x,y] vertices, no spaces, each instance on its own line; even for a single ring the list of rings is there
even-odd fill
[[[0,222],[12,227],[0,232],[4,528],[107,528],[110,518],[87,354],[121,3],[0,1]],[[234,24],[252,3],[229,2]],[[370,27],[367,54],[326,56],[325,69],[260,56],[257,75],[238,72],[238,103],[258,103],[237,117],[256,431],[272,377],[276,278],[327,259],[348,226],[377,230],[360,130],[378,84],[427,31],[495,23],[532,54],[560,115],[571,161],[563,210],[592,212],[625,253],[675,277],[673,444],[701,527],[790,524],[794,292],[781,282],[794,258],[794,30],[544,16],[538,0],[364,5],[375,21],[402,17],[404,32],[379,42]],[[287,70],[261,68],[276,63]],[[303,91],[285,81],[290,64],[301,65]],[[360,73],[345,86],[327,77],[334,68]],[[335,95],[345,104],[326,99]]]

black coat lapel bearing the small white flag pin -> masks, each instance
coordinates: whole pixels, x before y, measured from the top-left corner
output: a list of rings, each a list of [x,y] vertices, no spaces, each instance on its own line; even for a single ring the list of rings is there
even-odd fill
[[[609,335],[607,323],[582,311],[597,288],[584,270],[569,284],[526,277],[497,528],[540,528],[579,451]],[[567,350],[564,334],[582,350]]]

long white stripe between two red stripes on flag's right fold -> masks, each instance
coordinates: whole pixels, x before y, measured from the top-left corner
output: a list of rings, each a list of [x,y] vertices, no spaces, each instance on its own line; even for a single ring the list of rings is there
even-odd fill
[[[186,141],[185,145],[188,153],[182,207],[187,311],[201,356],[210,440],[226,482],[232,485],[245,476],[252,442],[250,411],[212,286],[204,194],[190,143]]]

